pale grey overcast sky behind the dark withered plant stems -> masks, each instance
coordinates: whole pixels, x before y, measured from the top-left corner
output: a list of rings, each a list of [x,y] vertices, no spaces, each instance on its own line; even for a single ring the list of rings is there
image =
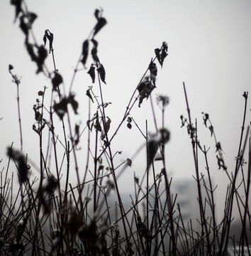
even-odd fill
[[[198,118],[199,138],[202,144],[211,146],[211,172],[216,180],[227,180],[223,171],[218,171],[215,145],[210,132],[202,126],[201,112],[208,112],[221,142],[229,169],[235,164],[240,139],[240,127],[244,98],[242,93],[250,90],[251,81],[251,1],[26,1],[28,9],[38,14],[33,25],[35,38],[43,44],[45,29],[54,33],[54,49],[57,68],[62,74],[65,87],[69,89],[73,67],[82,50],[83,41],[96,23],[94,10],[102,7],[107,25],[96,36],[99,41],[99,58],[106,68],[107,85],[104,95],[112,102],[107,110],[115,129],[125,107],[145,72],[154,49],[167,41],[169,55],[163,68],[159,68],[157,89],[152,96],[164,94],[170,97],[165,123],[171,131],[171,142],[167,144],[167,171],[174,178],[191,177],[194,165],[191,144],[186,129],[180,129],[179,116],[186,114],[182,82],[191,107],[191,115]],[[38,90],[50,87],[50,81],[43,75],[35,75],[35,65],[30,62],[18,21],[13,23],[14,9],[9,1],[0,3],[0,134],[1,158],[5,157],[6,146],[14,142],[20,146],[16,85],[11,82],[8,65],[14,66],[13,73],[21,78],[21,117],[23,125],[23,146],[32,159],[38,159],[38,136],[32,130],[34,123],[33,105]],[[51,57],[51,56],[50,56]],[[47,65],[53,70],[51,58]],[[79,101],[79,116],[87,120],[87,86],[91,85],[83,70],[77,73],[73,91]],[[155,108],[157,112],[157,107]],[[135,106],[131,115],[138,125],[145,129],[148,119],[152,125],[150,102],[143,102],[140,109]],[[250,101],[247,122],[250,117]],[[158,119],[160,124],[160,119]],[[114,150],[123,150],[119,161],[130,158],[144,142],[138,131],[126,127],[118,133]],[[201,156],[202,157],[202,156]],[[145,166],[135,159],[124,182],[131,182],[133,171],[143,174]],[[204,165],[201,165],[204,171]],[[130,176],[130,178],[129,178]]]

